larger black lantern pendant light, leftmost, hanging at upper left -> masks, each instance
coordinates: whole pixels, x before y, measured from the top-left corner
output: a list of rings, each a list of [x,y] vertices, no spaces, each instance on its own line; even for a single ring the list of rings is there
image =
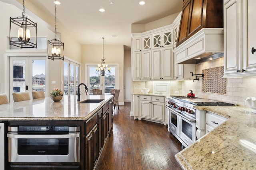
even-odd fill
[[[17,27],[18,26],[18,27]],[[14,38],[12,37],[12,27],[14,29],[18,29],[18,37]],[[36,34],[36,39],[35,42],[30,41],[30,28],[31,33]],[[10,45],[14,45],[16,47],[20,48],[36,48],[36,43],[37,43],[37,25],[35,22],[31,21],[25,16],[25,3],[23,0],[23,12],[22,12],[22,17],[17,17],[17,18],[11,18],[10,17]]]

